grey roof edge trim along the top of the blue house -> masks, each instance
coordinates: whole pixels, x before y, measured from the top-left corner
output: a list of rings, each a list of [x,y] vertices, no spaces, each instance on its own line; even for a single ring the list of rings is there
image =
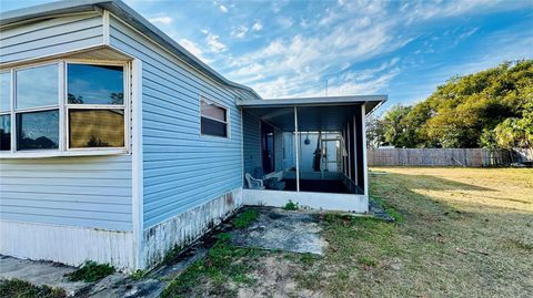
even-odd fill
[[[200,59],[187,51],[172,38],[159,30],[150,21],[144,19],[141,14],[139,14],[137,11],[134,11],[132,8],[130,8],[120,0],[64,0],[18,10],[11,10],[0,13],[0,27],[14,25],[17,23],[29,20],[51,18],[66,13],[76,13],[102,9],[110,11],[121,20],[125,21],[128,24],[139,30],[147,37],[151,38],[152,40],[164,47],[167,50],[174,53],[177,56],[179,56],[193,68],[198,69],[202,73],[207,74],[214,81],[228,86],[248,91],[258,99],[261,99],[261,96],[255,93],[253,89],[225,79],[222,74],[218,73],[215,70],[203,63]]]

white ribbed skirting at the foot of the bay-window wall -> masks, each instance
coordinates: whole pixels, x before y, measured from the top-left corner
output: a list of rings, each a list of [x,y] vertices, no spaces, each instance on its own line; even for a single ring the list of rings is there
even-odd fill
[[[86,260],[133,267],[131,232],[0,220],[0,254],[79,266]]]

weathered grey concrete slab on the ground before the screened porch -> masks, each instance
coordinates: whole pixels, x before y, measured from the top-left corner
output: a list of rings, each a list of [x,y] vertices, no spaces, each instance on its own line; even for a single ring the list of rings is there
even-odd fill
[[[255,222],[230,232],[233,245],[323,255],[326,242],[320,236],[322,228],[315,215],[270,207],[257,209]]]

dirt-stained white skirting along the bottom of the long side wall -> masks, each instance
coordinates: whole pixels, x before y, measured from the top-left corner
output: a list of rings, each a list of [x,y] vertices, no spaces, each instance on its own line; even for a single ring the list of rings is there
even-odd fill
[[[242,188],[235,188],[171,219],[144,229],[141,267],[151,268],[173,248],[182,249],[242,206]],[[142,264],[142,261],[144,264]]]

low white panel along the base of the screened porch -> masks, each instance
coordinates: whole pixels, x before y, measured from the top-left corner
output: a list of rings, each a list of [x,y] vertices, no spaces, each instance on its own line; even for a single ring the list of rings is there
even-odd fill
[[[369,212],[369,197],[355,194],[242,189],[244,205],[283,207],[289,201],[302,207],[354,213]]]

